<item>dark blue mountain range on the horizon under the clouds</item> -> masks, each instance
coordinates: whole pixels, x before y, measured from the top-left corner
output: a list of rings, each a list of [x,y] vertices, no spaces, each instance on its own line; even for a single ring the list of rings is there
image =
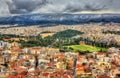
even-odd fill
[[[75,25],[83,23],[120,23],[120,14],[29,14],[0,17],[1,25]]]

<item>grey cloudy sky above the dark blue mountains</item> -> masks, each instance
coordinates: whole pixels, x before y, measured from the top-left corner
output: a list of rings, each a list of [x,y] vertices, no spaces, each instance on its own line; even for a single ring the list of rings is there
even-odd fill
[[[120,0],[0,0],[0,15],[87,12],[119,13]]]

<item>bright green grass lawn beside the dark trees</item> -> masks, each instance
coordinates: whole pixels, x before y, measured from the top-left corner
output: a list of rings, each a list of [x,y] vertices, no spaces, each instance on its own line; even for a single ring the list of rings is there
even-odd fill
[[[71,47],[73,48],[75,51],[79,50],[79,51],[90,51],[90,52],[98,52],[98,51],[106,51],[105,48],[101,48],[101,47],[94,47],[94,46],[90,46],[90,45],[71,45],[71,46],[66,46],[66,47]]]

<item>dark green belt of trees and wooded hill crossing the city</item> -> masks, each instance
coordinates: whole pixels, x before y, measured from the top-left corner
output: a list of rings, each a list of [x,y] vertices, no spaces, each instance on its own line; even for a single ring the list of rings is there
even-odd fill
[[[47,36],[45,38],[42,38],[40,34],[38,34],[37,36],[26,36],[26,38],[28,38],[28,41],[20,40],[18,42],[21,44],[21,47],[49,46],[49,47],[61,48],[62,46],[78,45],[80,41],[83,41],[87,45],[92,45],[97,47],[104,47],[104,48],[120,47],[116,43],[107,44],[101,41],[89,40],[88,38],[83,38],[83,37],[73,38],[74,36],[82,35],[82,34],[83,32],[69,29],[58,32],[53,36]],[[22,37],[22,36],[2,35],[0,37],[12,38],[12,37]]]

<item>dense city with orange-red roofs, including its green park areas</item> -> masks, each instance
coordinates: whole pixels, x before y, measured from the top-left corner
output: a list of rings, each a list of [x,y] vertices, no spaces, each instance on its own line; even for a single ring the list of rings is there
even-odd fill
[[[0,78],[119,78],[119,29],[119,24],[4,26]]]

